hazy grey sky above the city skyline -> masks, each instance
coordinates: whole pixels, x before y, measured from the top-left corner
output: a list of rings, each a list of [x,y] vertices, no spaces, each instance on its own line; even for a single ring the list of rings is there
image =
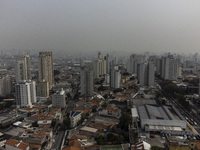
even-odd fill
[[[0,50],[198,52],[200,0],[0,0]]]

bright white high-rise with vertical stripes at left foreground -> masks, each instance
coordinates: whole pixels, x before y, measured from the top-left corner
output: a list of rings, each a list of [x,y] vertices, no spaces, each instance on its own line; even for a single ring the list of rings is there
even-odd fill
[[[16,106],[32,107],[32,102],[36,101],[34,82],[24,81],[15,85]]]

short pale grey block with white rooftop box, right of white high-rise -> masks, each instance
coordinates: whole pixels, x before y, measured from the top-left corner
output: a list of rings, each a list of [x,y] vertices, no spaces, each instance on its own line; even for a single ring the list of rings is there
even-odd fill
[[[53,106],[60,106],[62,108],[66,107],[66,94],[63,89],[60,92],[56,92],[52,95],[52,105]]]

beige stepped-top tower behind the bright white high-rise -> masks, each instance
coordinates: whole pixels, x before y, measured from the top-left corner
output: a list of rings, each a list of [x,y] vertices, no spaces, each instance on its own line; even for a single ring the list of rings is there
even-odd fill
[[[23,55],[22,59],[16,62],[15,79],[16,83],[23,80],[31,80],[31,65],[29,55]]]

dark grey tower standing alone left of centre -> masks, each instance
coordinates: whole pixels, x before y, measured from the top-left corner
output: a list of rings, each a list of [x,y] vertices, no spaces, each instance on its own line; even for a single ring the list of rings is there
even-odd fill
[[[94,73],[90,66],[81,68],[81,95],[92,96],[94,92]]]

